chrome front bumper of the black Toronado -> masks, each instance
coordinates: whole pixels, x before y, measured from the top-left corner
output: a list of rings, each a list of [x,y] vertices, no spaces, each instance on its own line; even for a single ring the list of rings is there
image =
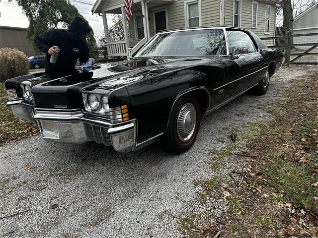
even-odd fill
[[[112,146],[118,152],[136,150],[136,120],[110,124],[85,118],[80,111],[38,111],[22,101],[9,101],[7,106],[17,118],[36,120],[46,141],[79,144],[95,141]]]

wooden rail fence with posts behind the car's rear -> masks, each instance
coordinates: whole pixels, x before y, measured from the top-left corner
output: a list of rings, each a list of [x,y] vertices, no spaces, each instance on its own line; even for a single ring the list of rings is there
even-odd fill
[[[284,36],[263,37],[261,40],[268,47],[280,48],[285,53],[285,63],[318,64],[318,33],[291,34]]]

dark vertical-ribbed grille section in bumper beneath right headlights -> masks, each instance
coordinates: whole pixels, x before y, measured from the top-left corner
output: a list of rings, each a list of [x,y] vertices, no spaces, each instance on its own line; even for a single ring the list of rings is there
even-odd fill
[[[107,134],[107,128],[84,123],[86,136],[99,144],[111,145],[110,136]]]

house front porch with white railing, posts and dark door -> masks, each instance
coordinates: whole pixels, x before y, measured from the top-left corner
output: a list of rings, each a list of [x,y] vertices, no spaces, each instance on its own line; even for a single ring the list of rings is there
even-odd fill
[[[97,0],[92,12],[102,14],[108,57],[131,57],[154,34],[168,30],[167,7],[164,4],[170,2],[173,0],[134,0],[133,16],[127,24],[124,0]],[[153,14],[149,14],[150,8],[153,8]],[[106,14],[122,14],[125,39],[110,40]],[[154,28],[150,26],[150,22]]]

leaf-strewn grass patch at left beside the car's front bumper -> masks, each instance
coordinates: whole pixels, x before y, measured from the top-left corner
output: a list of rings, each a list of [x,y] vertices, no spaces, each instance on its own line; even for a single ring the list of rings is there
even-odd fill
[[[5,105],[6,101],[5,98],[0,99],[0,145],[38,134],[36,123],[15,118]]]

